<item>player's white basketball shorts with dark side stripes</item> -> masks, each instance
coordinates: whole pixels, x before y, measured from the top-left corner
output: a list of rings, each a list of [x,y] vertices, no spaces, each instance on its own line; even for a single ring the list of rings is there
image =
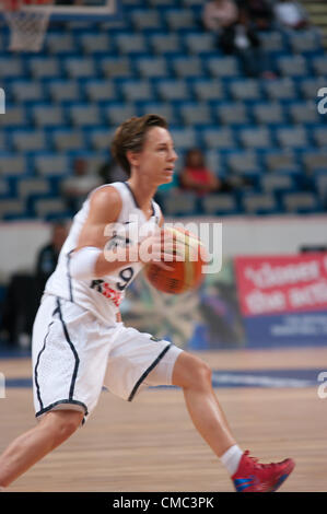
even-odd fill
[[[151,334],[108,326],[79,305],[45,295],[33,327],[33,394],[36,418],[58,409],[85,417],[103,386],[131,401],[145,386],[171,385],[183,350]]]

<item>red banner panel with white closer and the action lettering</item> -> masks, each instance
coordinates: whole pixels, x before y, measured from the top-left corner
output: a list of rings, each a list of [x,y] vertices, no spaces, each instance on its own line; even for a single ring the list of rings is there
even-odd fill
[[[246,316],[327,311],[327,254],[236,257],[234,265]]]

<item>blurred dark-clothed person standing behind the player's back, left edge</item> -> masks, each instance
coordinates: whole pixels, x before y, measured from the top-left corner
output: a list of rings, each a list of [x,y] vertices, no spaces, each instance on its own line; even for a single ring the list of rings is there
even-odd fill
[[[14,273],[11,277],[5,291],[1,322],[1,336],[9,344],[30,347],[44,287],[57,266],[67,234],[68,231],[62,223],[55,223],[49,243],[37,255],[35,272]]]

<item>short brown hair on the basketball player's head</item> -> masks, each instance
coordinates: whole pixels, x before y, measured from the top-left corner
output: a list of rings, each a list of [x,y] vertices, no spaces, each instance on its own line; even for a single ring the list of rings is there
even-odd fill
[[[167,128],[167,121],[156,114],[127,119],[121,124],[112,142],[112,154],[117,163],[130,175],[130,164],[127,152],[140,152],[145,141],[147,132],[153,127]]]

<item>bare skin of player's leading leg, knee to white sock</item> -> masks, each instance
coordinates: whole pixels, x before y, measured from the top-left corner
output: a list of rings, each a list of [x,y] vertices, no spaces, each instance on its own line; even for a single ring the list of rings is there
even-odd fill
[[[221,457],[236,442],[212,389],[210,367],[197,357],[183,352],[176,360],[172,382],[183,388],[195,427]]]

